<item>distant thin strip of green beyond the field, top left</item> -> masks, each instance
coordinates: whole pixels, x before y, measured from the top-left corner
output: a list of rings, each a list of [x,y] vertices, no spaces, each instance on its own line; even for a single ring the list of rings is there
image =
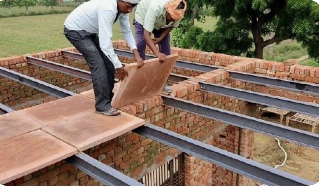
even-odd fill
[[[69,12],[71,12],[74,8],[73,7],[59,7],[59,6],[55,7],[54,6],[53,9],[56,11],[69,11]],[[42,12],[42,13],[52,12],[51,7],[41,6],[41,5],[29,7],[28,10],[29,10],[29,14],[31,12]],[[26,9],[24,7],[12,7],[11,11],[12,11],[12,14],[15,14],[15,15],[19,15],[21,13],[26,13]],[[4,7],[0,7],[0,15],[9,16],[8,9],[4,8]]]

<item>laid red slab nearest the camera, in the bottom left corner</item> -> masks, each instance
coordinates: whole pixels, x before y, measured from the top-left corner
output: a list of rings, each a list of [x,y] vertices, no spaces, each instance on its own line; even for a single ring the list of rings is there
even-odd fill
[[[36,130],[0,140],[0,184],[47,167],[78,151],[61,140]]]

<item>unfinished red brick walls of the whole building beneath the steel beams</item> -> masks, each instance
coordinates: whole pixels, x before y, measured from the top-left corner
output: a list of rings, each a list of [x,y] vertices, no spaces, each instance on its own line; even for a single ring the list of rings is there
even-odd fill
[[[113,45],[118,49],[128,49],[123,41],[115,41],[113,42]],[[68,48],[67,50],[76,51],[74,48]],[[267,73],[268,61],[259,59],[184,50],[179,48],[172,48],[172,52],[178,53],[179,59],[182,60],[218,65],[223,68],[236,71],[251,73],[264,72],[264,75],[267,76],[272,76],[271,74],[275,71],[273,76],[281,76],[283,74],[280,74],[280,72],[286,72],[286,67],[290,66],[288,71],[289,75],[286,78],[293,78],[293,74],[296,74],[296,68],[292,71],[291,67],[293,65],[291,65],[291,63],[285,63],[283,68],[282,65],[277,65],[277,62],[269,63],[271,64],[271,71]],[[59,50],[38,53],[34,54],[34,56],[81,69],[88,69],[87,65],[81,61],[61,57],[61,52]],[[128,58],[121,58],[121,60],[128,63],[132,62],[132,59]],[[263,70],[264,68],[261,68],[260,64],[263,64],[262,67],[267,64],[267,68],[265,69],[266,71]],[[90,81],[84,81],[55,71],[29,65],[26,63],[26,59],[23,56],[0,59],[0,65],[44,80],[50,84],[76,91],[77,93],[91,89]],[[293,73],[290,73],[291,71]],[[308,75],[308,73],[305,73],[308,72],[305,68],[304,80],[307,76],[315,78],[316,74],[313,74],[313,72],[316,71],[317,69],[309,69]],[[200,86],[197,81],[204,80],[210,83],[264,92],[259,89],[260,86],[258,85],[231,79],[228,72],[223,71],[222,69],[214,70],[205,74],[185,70],[179,71],[178,69],[174,69],[173,72],[193,77],[191,80],[173,84],[171,86],[173,97],[183,98],[238,113],[247,113],[247,102],[216,94],[204,93],[200,91]],[[292,77],[290,75],[292,75]],[[13,81],[8,81],[5,78],[0,79],[0,84],[1,102],[14,107],[15,109],[21,109],[55,99],[34,89],[26,89],[23,85]],[[270,92],[271,91],[269,91],[269,93]],[[287,94],[284,96],[287,96]],[[302,100],[301,98],[303,97],[298,95],[296,99]],[[317,97],[311,96],[311,98],[313,98],[313,101],[311,100],[312,102],[318,103]],[[229,152],[240,154],[247,158],[253,157],[254,136],[251,131],[239,129],[234,126],[226,125],[215,120],[209,120],[177,109],[164,107],[162,105],[162,99],[159,96],[122,107],[121,110],[145,119],[147,122],[152,124],[186,135],[196,140],[203,141]],[[143,136],[139,136],[133,132],[129,132],[86,150],[85,153],[138,180],[145,174],[157,168],[159,165],[176,157],[180,152]],[[250,180],[245,177],[238,176],[236,173],[220,168],[214,164],[205,163],[191,155],[186,155],[185,167],[186,184],[189,185],[244,185],[249,184],[250,182]],[[95,179],[76,169],[74,166],[61,161],[8,184],[97,185],[99,183]]]

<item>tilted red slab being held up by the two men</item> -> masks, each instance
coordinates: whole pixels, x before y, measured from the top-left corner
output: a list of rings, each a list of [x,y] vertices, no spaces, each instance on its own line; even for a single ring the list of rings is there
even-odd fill
[[[136,63],[125,65],[129,76],[120,82],[119,89],[114,93],[111,105],[114,108],[131,104],[136,101],[159,95],[171,73],[178,55],[168,55],[165,62],[157,58],[144,61],[144,66]]]

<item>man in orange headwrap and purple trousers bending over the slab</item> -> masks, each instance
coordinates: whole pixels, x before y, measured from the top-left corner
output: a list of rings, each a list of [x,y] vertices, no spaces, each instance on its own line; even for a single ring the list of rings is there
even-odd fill
[[[186,11],[185,0],[141,0],[136,7],[133,25],[140,57],[145,60],[146,44],[160,61],[171,53],[169,32],[178,27]],[[154,34],[154,39],[151,38]],[[158,44],[159,50],[155,47]],[[138,64],[143,65],[143,62]]]

